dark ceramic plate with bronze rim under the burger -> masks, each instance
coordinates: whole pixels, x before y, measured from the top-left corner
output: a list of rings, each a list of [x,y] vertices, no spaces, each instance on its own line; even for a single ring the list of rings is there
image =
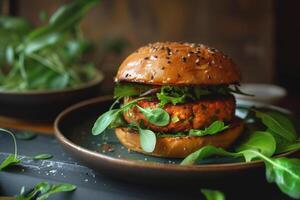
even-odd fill
[[[129,152],[118,142],[113,130],[106,130],[100,136],[91,134],[94,121],[111,103],[111,97],[84,101],[63,111],[55,121],[55,135],[65,149],[100,173],[130,181],[155,183],[159,180],[160,183],[173,184],[199,180],[209,182],[233,174],[242,175],[263,166],[261,161],[245,163],[231,158],[206,159],[200,165],[180,166],[181,159]],[[244,113],[237,110],[237,114]]]

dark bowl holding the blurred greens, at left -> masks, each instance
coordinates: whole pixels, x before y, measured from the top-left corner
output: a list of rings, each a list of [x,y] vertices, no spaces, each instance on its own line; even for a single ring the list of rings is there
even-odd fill
[[[34,120],[53,121],[66,107],[99,95],[103,75],[78,87],[32,92],[0,92],[0,115]]]

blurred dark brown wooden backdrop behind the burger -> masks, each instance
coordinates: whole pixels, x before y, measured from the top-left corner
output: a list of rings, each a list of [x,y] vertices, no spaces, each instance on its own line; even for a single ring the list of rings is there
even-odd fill
[[[39,13],[49,15],[70,0],[0,0],[11,13],[38,25]],[[297,95],[300,89],[300,1],[296,0],[103,0],[81,26],[96,45],[91,59],[106,74],[104,91],[122,60],[154,41],[204,43],[230,55],[244,82],[276,83]],[[103,52],[107,41],[125,40],[120,54]]]

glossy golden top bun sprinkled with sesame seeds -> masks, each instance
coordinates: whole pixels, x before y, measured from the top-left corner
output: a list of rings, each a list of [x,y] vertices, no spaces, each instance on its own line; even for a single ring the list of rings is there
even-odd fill
[[[232,59],[203,44],[157,42],[141,47],[121,64],[116,82],[151,85],[220,85],[241,80]]]

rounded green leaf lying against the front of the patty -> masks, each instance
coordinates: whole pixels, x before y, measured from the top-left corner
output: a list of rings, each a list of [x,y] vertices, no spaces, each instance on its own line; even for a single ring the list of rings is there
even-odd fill
[[[170,115],[162,108],[142,108],[137,106],[137,108],[143,113],[146,119],[156,126],[166,126],[170,122]]]

